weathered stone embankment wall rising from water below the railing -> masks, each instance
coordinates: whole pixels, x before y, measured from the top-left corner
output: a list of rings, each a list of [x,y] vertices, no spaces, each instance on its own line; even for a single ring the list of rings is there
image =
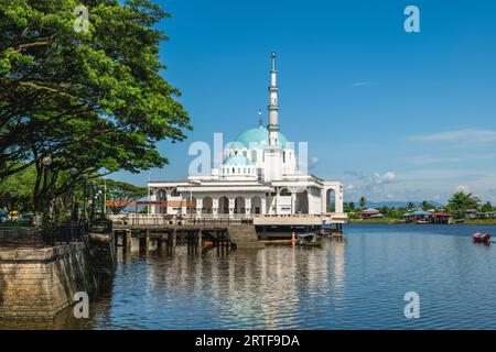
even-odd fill
[[[95,298],[116,265],[114,237],[43,249],[0,249],[0,318],[51,320],[78,292]]]

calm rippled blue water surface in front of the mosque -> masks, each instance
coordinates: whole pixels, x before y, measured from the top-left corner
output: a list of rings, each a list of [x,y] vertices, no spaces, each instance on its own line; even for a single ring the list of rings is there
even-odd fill
[[[122,256],[89,319],[68,309],[53,329],[496,329],[496,227],[349,224],[322,249],[269,246]],[[408,320],[407,292],[420,295]]]

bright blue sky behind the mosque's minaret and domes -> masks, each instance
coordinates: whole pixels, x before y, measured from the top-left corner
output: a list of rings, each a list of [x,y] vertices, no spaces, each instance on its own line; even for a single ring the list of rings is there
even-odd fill
[[[496,1],[172,0],[160,28],[165,79],[191,114],[188,140],[159,148],[152,179],[181,179],[194,141],[226,142],[267,121],[278,54],[280,124],[308,141],[312,173],[346,200],[496,201]],[[403,10],[420,9],[420,33]],[[144,185],[147,173],[117,173]]]

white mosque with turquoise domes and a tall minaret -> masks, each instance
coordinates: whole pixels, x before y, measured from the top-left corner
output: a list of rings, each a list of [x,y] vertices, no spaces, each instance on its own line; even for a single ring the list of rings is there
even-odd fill
[[[277,218],[311,224],[346,222],[343,185],[306,173],[294,143],[281,133],[276,54],[271,59],[268,127],[260,122],[228,143],[222,166],[208,175],[149,182],[151,217],[246,218],[256,224],[273,223]]]

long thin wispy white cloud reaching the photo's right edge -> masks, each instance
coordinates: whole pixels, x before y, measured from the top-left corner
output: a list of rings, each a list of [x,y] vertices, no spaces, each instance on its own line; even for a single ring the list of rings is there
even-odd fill
[[[414,141],[421,142],[464,142],[464,143],[489,143],[496,141],[495,130],[464,129],[456,131],[444,131],[433,134],[416,135]]]

